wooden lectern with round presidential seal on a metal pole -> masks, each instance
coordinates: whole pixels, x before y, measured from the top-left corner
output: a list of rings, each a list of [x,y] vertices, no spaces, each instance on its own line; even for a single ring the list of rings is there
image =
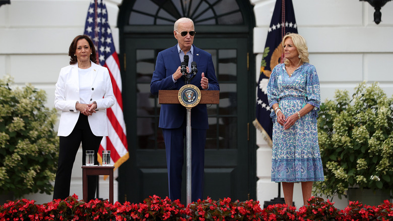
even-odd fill
[[[191,88],[187,88],[191,87]],[[184,89],[183,89],[184,88]],[[197,89],[195,91],[195,88]],[[187,89],[194,90],[197,93],[197,103],[191,102],[189,105],[180,102],[182,93]],[[193,96],[193,95],[192,95]],[[187,205],[191,203],[191,108],[198,104],[218,104],[220,102],[220,91],[218,90],[202,90],[200,91],[192,84],[184,85],[180,90],[159,90],[158,103],[159,104],[181,104],[187,109],[187,130],[186,130],[186,173],[187,173]]]

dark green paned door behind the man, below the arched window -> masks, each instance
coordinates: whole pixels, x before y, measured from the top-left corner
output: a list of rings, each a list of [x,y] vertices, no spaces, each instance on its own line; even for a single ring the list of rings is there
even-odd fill
[[[221,88],[220,103],[208,105],[210,128],[205,149],[205,199],[210,196],[246,200],[250,186],[254,186],[250,185],[255,180],[255,169],[250,168],[249,163],[253,144],[249,143],[248,128],[253,119],[249,106],[254,102],[249,99],[250,92],[254,92],[249,82],[254,79],[249,78],[247,67],[248,41],[248,36],[195,36],[195,46],[212,54]],[[161,198],[168,195],[165,145],[158,128],[160,105],[157,97],[150,94],[150,81],[157,53],[176,43],[173,35],[133,35],[124,39],[123,99],[130,157],[119,168],[120,202],[141,202],[152,195]],[[185,177],[184,165],[183,203]]]

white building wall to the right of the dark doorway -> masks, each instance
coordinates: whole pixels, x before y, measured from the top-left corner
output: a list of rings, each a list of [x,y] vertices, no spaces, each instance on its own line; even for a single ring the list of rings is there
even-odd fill
[[[254,53],[256,81],[265,48],[275,0],[250,0],[254,5]],[[373,22],[374,9],[359,0],[292,0],[298,32],[307,41],[310,63],[316,67],[321,99],[332,99],[336,89],[350,93],[362,81],[378,81],[384,91],[393,94],[393,3],[381,10],[382,22]],[[272,150],[257,132],[257,200],[263,204],[278,195],[278,185],[271,182]],[[281,197],[284,195],[281,191]],[[296,206],[303,204],[300,184],[295,184]],[[335,206],[344,208],[347,200],[335,197]]]

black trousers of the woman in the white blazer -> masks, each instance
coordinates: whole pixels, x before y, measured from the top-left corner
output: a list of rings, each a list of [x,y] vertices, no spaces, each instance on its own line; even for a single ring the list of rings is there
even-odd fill
[[[67,137],[60,136],[56,179],[53,199],[65,199],[70,196],[71,173],[75,157],[82,142],[82,165],[86,164],[86,150],[94,150],[94,164],[98,165],[97,152],[102,137],[95,136],[90,129],[88,117],[80,114],[74,130]],[[105,119],[103,119],[105,120]],[[82,170],[82,169],[81,169]],[[98,176],[88,176],[88,201],[95,199]]]

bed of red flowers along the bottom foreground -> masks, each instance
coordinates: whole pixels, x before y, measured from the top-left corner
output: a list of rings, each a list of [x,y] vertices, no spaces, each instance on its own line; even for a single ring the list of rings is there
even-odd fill
[[[334,203],[311,197],[308,205],[288,207],[269,205],[261,209],[258,201],[198,200],[187,207],[179,200],[152,196],[143,203],[110,204],[107,200],[78,201],[73,195],[65,200],[35,204],[34,200],[9,201],[0,207],[3,220],[393,220],[393,203],[385,200],[379,206],[350,202],[339,210]]]

